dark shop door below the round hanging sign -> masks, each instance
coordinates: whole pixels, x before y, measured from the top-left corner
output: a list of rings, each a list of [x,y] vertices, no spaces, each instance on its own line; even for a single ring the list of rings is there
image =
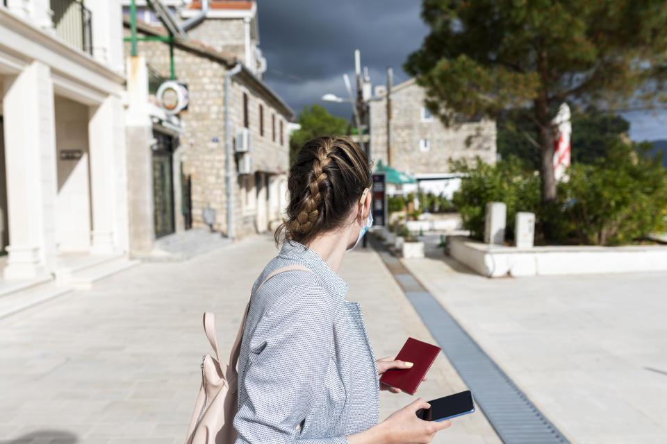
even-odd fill
[[[174,138],[158,131],[153,137],[157,140],[153,147],[155,236],[161,237],[174,232]]]

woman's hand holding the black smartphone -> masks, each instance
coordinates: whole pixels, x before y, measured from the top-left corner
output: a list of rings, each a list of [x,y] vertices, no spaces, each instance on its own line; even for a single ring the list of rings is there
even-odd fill
[[[388,416],[379,424],[386,432],[386,442],[391,444],[430,443],[438,430],[452,425],[450,420],[425,421],[417,417],[416,411],[429,407],[431,406],[428,402],[418,398]]]

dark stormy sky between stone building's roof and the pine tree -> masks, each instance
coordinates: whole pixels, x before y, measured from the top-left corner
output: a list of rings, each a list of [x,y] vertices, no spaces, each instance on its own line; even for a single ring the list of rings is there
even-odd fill
[[[409,76],[401,65],[428,32],[418,0],[258,0],[260,46],[267,59],[265,81],[294,110],[322,103],[331,92],[347,98],[343,73],[354,82],[354,49],[373,85]],[[354,85],[353,85],[354,87]],[[348,118],[349,103],[322,103]]]

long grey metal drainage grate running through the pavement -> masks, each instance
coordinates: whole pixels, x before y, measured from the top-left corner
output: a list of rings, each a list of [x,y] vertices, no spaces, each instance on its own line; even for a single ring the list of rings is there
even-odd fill
[[[400,260],[373,242],[422,321],[507,444],[569,443]]]

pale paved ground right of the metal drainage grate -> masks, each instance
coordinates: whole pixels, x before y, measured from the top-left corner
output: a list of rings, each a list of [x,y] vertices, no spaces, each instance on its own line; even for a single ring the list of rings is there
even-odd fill
[[[667,443],[667,273],[487,279],[402,259],[573,443]]]

